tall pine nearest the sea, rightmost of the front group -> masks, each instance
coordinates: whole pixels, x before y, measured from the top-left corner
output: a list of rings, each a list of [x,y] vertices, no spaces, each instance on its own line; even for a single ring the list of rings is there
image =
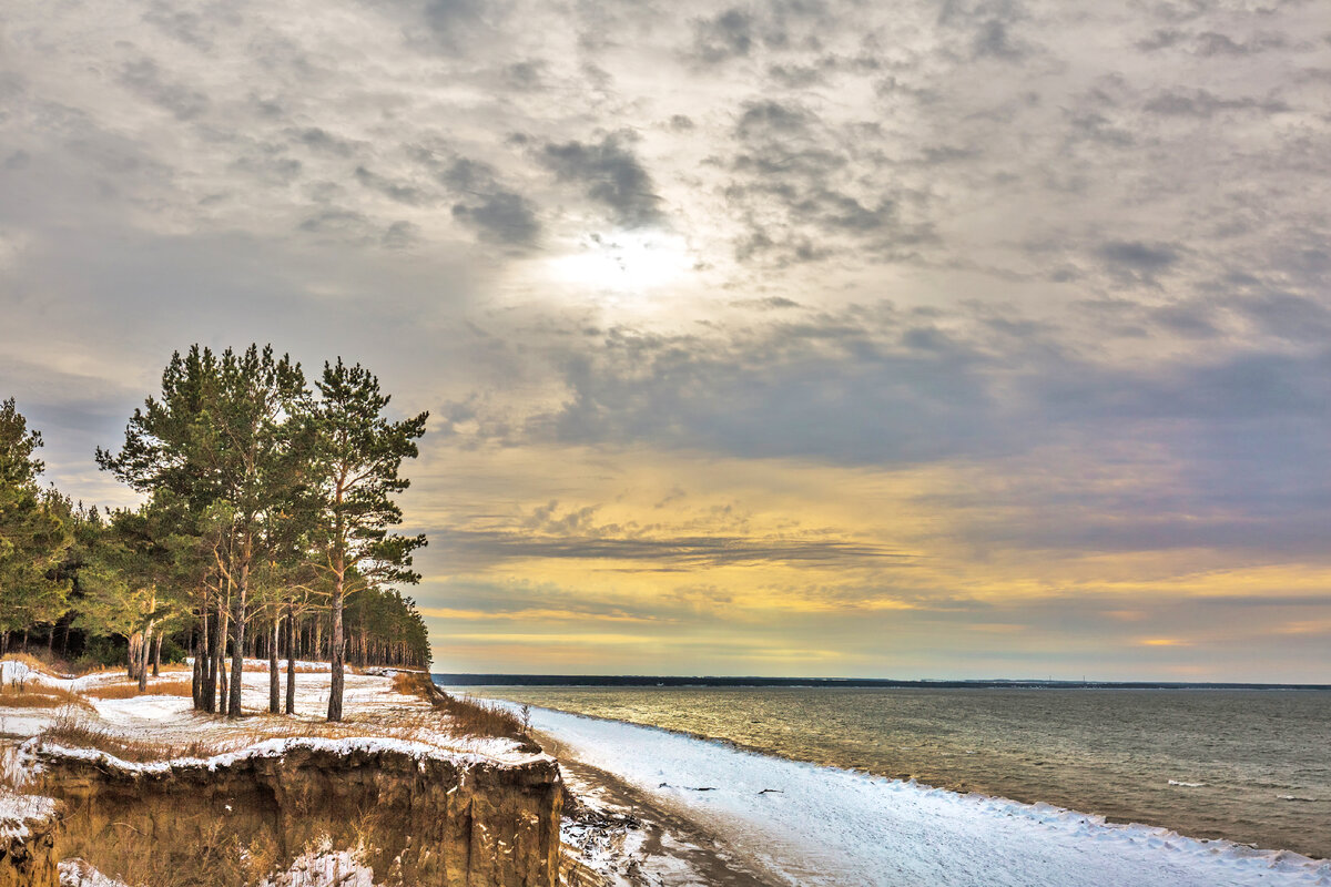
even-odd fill
[[[323,364],[315,386],[319,399],[310,410],[319,480],[314,533],[318,563],[333,580],[327,719],[341,721],[346,668],[342,612],[347,594],[365,582],[421,580],[411,570],[411,552],[426,544],[425,536],[398,536],[389,528],[402,523],[402,509],[393,497],[411,481],[398,472],[403,459],[418,455],[415,442],[425,435],[430,414],[391,422],[383,415],[390,396],[381,394],[378,378],[359,363],[346,366],[341,358]]]

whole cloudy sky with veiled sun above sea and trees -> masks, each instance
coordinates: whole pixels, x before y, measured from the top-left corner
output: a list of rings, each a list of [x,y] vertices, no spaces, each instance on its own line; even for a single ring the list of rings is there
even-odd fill
[[[438,672],[1331,682],[1320,0],[8,0],[0,395],[429,410]]]

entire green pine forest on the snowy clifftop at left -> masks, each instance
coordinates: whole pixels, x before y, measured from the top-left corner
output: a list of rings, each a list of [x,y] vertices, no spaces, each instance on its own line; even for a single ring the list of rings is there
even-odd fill
[[[268,660],[269,711],[294,709],[297,662],[429,668],[401,590],[423,535],[394,532],[429,414],[394,420],[378,378],[338,358],[306,382],[257,344],[193,346],[134,410],[102,471],[141,497],[87,505],[43,485],[41,432],[0,404],[0,656],[118,662],[140,689],[193,657],[201,711],[240,717],[246,658]],[[285,699],[281,660],[286,660]]]

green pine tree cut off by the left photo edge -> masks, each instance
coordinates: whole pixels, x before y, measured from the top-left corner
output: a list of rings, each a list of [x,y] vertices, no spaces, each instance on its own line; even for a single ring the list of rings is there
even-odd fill
[[[60,561],[73,536],[60,517],[63,501],[43,492],[37,477],[45,467],[33,453],[41,434],[28,422],[13,398],[0,403],[0,632],[40,624],[55,626],[67,609],[69,581],[59,574]]]

